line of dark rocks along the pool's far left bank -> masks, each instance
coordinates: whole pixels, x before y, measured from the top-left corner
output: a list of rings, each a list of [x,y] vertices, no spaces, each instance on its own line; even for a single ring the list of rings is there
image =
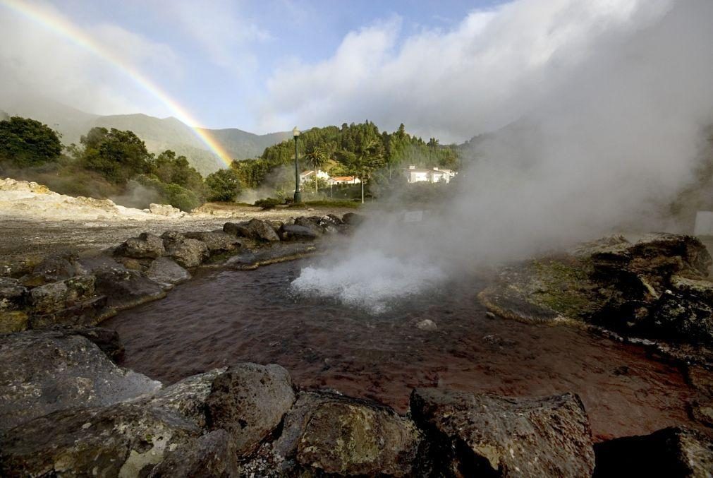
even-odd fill
[[[165,297],[201,265],[235,255],[239,268],[298,258],[314,250],[302,244],[348,229],[334,215],[297,218],[293,224],[253,219],[225,223],[222,230],[143,233],[111,256],[59,254],[8,266],[0,271],[0,334],[96,325],[117,310]]]

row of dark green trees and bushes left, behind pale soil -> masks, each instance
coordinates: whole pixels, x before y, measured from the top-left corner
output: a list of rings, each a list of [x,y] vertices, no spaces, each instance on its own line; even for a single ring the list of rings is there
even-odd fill
[[[160,202],[192,210],[240,192],[234,171],[204,180],[185,156],[149,153],[132,131],[92,128],[78,145],[63,148],[51,128],[17,116],[0,121],[0,173],[36,180],[58,193],[120,198],[134,207]]]

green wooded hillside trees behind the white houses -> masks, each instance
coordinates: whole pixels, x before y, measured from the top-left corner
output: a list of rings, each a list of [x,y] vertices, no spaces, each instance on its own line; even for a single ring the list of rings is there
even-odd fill
[[[403,124],[394,133],[379,132],[371,121],[304,131],[297,139],[304,169],[329,169],[332,176],[357,176],[362,180],[388,181],[400,168],[415,164],[425,168],[458,168],[458,148],[428,142],[406,133]],[[294,142],[283,141],[265,148],[260,158],[234,161],[232,169],[247,188],[262,185],[275,168],[294,161]]]

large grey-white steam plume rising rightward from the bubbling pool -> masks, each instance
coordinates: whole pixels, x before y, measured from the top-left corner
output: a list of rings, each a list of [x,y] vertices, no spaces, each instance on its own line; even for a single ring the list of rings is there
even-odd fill
[[[566,78],[556,61],[536,70],[530,86],[550,92],[473,141],[444,207],[416,225],[376,215],[346,253],[303,270],[294,288],[383,310],[464,269],[612,232],[679,227],[665,211],[691,182],[713,123],[713,2],[625,3],[625,28],[602,26],[599,48]],[[509,91],[503,105],[521,95]]]

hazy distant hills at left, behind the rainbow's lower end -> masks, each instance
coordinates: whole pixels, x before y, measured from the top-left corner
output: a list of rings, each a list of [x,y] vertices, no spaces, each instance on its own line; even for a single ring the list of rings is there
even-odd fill
[[[0,98],[0,111],[11,116],[34,118],[62,135],[62,143],[79,143],[79,138],[94,126],[130,130],[136,133],[152,153],[171,149],[188,158],[203,176],[224,165],[196,135],[193,128],[176,118],[155,118],[145,114],[100,116],[85,113],[48,98],[16,96]],[[205,129],[234,159],[254,158],[265,148],[291,137],[291,133],[257,135],[237,128]]]

